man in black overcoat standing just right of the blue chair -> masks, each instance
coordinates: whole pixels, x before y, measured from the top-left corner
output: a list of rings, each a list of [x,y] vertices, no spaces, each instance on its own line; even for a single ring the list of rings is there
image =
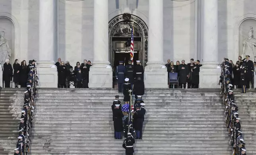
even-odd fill
[[[181,61],[181,64],[178,66],[178,72],[179,72],[179,83],[180,83],[180,88],[186,88],[186,82],[188,78],[188,66],[185,64],[185,60]]]

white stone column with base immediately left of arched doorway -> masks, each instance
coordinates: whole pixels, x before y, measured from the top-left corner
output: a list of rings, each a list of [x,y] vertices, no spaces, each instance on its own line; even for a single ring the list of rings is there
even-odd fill
[[[109,2],[94,0],[93,66],[89,72],[89,87],[112,88],[112,68],[109,65]]]

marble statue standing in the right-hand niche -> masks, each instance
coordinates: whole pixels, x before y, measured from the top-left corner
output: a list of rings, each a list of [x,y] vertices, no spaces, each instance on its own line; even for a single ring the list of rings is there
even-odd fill
[[[253,38],[252,26],[250,26],[250,30],[248,31],[248,38],[244,38],[242,44],[242,58],[249,55],[252,61],[256,61],[256,39]]]

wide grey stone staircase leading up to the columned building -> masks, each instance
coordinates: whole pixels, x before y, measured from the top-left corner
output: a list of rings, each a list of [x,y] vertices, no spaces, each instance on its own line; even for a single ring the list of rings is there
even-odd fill
[[[235,98],[247,154],[255,155],[256,93],[241,95],[239,91]],[[113,137],[111,105],[116,92],[39,89],[30,154],[124,155],[123,140]],[[0,97],[0,119],[11,120],[1,121],[6,124],[0,127],[5,132],[0,135],[0,155],[13,154],[23,90],[4,89]],[[135,155],[231,154],[219,89],[147,89],[143,99],[147,110],[145,129],[143,140],[134,144]]]

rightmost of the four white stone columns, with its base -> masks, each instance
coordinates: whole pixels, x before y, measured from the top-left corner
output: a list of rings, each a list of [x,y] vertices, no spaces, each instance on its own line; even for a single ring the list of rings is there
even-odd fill
[[[217,85],[221,68],[218,62],[218,0],[202,0],[200,88],[220,88]]]

